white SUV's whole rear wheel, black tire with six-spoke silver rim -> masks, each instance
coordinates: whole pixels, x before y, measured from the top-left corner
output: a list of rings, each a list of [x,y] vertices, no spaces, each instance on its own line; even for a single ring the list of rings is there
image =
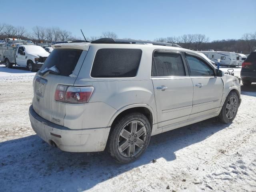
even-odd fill
[[[111,128],[108,152],[118,163],[130,163],[138,159],[148,147],[151,135],[150,122],[141,113],[130,113]]]

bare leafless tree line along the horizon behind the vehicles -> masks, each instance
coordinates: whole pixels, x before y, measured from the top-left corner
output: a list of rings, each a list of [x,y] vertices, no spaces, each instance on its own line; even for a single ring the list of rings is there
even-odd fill
[[[20,38],[32,40],[33,42],[54,42],[73,41],[83,38],[73,36],[71,32],[59,27],[34,26],[30,32],[23,26],[12,26],[0,23],[0,39]],[[86,37],[86,40],[93,41],[98,38],[118,38],[115,32],[102,32],[101,36]],[[126,38],[127,39],[127,38]],[[256,50],[256,32],[246,33],[240,39],[214,40],[210,42],[209,37],[204,34],[184,34],[182,36],[168,36],[156,38],[154,41],[175,43],[190,50],[229,51],[249,54]]]

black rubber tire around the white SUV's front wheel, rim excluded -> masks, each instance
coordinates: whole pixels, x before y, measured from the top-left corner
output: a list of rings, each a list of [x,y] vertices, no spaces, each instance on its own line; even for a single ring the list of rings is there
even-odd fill
[[[230,98],[234,98],[236,100],[236,106],[232,106],[231,108],[231,113],[232,113],[232,118],[230,116],[230,118],[228,118],[228,112],[230,111],[230,109],[228,110],[228,104],[230,102]],[[233,108],[236,107],[236,111],[233,112]],[[220,111],[219,114],[219,119],[224,122],[224,123],[231,123],[234,118],[236,117],[237,111],[238,111],[238,107],[239,107],[239,99],[238,99],[238,95],[236,94],[236,92],[230,92],[222,106],[222,109]]]

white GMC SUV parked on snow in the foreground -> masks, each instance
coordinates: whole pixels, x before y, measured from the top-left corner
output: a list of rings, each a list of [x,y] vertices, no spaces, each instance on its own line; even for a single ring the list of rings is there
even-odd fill
[[[56,44],[36,74],[32,128],[63,151],[105,148],[128,163],[150,136],[219,116],[230,123],[240,83],[175,44],[99,39]]]

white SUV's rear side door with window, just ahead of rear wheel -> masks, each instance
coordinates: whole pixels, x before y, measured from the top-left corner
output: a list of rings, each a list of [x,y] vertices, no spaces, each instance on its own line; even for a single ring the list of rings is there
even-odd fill
[[[187,74],[180,52],[154,52],[151,78],[158,128],[188,119],[192,111],[193,84]]]

